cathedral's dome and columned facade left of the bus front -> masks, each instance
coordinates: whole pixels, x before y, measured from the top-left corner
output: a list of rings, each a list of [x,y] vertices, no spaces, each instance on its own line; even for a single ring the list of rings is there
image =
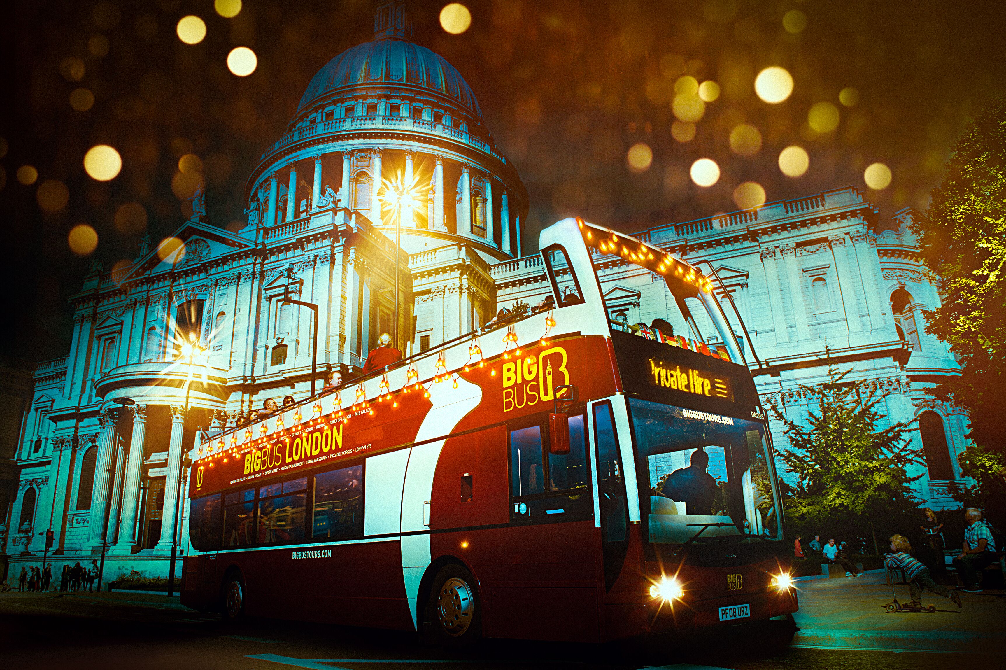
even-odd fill
[[[206,220],[200,191],[173,241],[93,264],[69,351],[34,370],[0,507],[11,569],[38,564],[51,529],[55,574],[104,550],[106,579],[166,575],[200,428],[348,379],[382,333],[425,349],[492,318],[490,268],[520,255],[526,190],[402,2],[377,7],[374,32],[311,80],[250,173],[241,229]]]

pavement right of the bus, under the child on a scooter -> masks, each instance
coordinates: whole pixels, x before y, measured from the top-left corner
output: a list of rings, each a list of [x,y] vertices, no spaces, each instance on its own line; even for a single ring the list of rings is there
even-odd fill
[[[1002,653],[1006,649],[1006,591],[961,592],[964,607],[926,592],[937,611],[888,614],[891,588],[883,570],[860,577],[799,579],[800,632],[794,645],[829,649],[887,649],[945,653]],[[907,584],[895,584],[899,603]]]

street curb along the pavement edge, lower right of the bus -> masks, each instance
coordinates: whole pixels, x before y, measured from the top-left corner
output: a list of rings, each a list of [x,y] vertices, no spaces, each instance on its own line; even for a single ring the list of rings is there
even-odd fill
[[[927,652],[998,652],[1006,635],[970,631],[827,631],[803,627],[794,645],[833,649],[888,649]]]

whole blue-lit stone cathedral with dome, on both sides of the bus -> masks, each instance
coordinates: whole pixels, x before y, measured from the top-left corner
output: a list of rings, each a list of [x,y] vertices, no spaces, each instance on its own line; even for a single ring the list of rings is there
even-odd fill
[[[200,429],[348,378],[381,333],[424,351],[547,293],[541,257],[521,247],[520,177],[468,83],[410,40],[399,3],[377,10],[373,41],[314,76],[246,195],[242,229],[206,221],[197,199],[176,246],[148,244],[131,266],[96,263],[83,278],[69,351],[35,366],[0,507],[12,570],[44,554],[58,573],[104,553],[107,580],[166,575],[173,543],[190,550]],[[916,492],[945,507],[967,417],[927,393],[959,368],[921,327],[940,298],[911,215],[881,221],[843,188],[639,234],[715,271],[768,401],[803,411],[799,384],[823,378],[827,346],[884,392],[891,421],[917,422]],[[613,320],[666,314],[663,282],[597,260]]]

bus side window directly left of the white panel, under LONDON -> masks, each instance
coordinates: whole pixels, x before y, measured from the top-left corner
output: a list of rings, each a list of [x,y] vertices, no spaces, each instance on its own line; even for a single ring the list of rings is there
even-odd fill
[[[315,475],[312,537],[336,539],[363,534],[363,466]]]

